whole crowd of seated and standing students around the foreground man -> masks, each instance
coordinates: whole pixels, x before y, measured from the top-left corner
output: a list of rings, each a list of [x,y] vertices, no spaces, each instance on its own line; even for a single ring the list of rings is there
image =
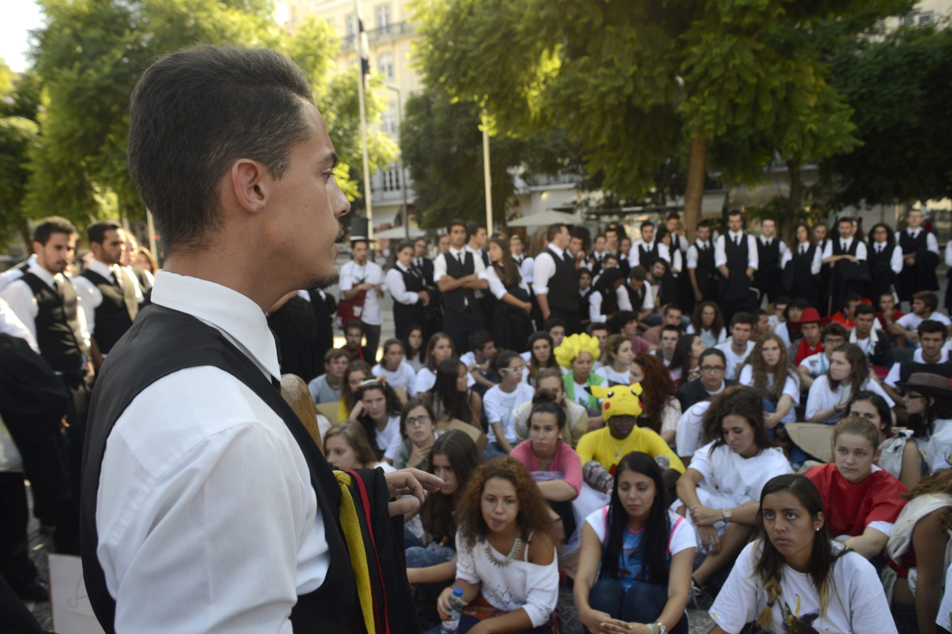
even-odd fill
[[[459,632],[563,631],[566,578],[590,632],[684,634],[688,606],[712,632],[947,631],[952,321],[935,235],[904,221],[792,245],[739,212],[691,243],[677,214],[636,240],[452,221],[386,268],[352,239],[339,297],[288,293],[268,326],[327,462],[442,479],[404,516],[407,580],[440,620],[461,589]],[[0,571],[37,601],[24,476],[77,553],[90,394],[158,264],[116,222],[76,275],[68,221],[33,238],[0,275],[0,354],[29,369],[0,373]]]

